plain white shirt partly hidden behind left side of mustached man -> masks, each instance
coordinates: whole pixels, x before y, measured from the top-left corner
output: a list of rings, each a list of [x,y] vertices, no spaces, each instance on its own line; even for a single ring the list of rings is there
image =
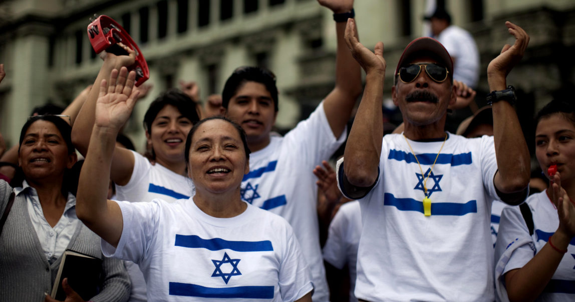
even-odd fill
[[[356,263],[358,258],[359,236],[361,236],[361,209],[359,201],[343,204],[329,224],[324,245],[324,260],[336,269],[347,264],[350,270],[350,301],[357,302],[354,296]]]

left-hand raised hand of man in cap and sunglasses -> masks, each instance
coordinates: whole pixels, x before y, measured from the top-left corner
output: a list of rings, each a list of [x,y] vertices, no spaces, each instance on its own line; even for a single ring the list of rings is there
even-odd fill
[[[385,75],[384,43],[380,41],[375,44],[374,52],[359,43],[353,19],[347,20],[345,38],[351,55],[354,56],[354,59],[361,65],[366,74],[378,72]]]

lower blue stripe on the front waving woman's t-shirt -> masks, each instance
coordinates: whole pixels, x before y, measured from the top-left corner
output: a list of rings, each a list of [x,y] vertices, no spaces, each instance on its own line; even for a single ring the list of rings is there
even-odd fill
[[[273,299],[274,286],[211,288],[196,284],[170,282],[170,295],[227,299]]]

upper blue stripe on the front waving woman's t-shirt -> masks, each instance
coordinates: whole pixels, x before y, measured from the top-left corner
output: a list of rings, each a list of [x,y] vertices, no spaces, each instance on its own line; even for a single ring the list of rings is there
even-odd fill
[[[263,241],[230,241],[221,238],[202,239],[197,235],[176,234],[174,246],[190,247],[192,249],[208,249],[210,251],[233,250],[241,252],[249,251],[273,251],[274,247],[270,240]]]

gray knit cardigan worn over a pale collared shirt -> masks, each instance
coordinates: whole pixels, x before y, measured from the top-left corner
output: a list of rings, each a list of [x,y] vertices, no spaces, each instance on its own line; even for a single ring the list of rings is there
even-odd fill
[[[0,216],[11,192],[0,180]],[[49,264],[29,217],[26,199],[17,196],[0,234],[0,301],[41,302],[45,292],[52,292],[62,257]],[[102,255],[98,235],[79,224],[67,249],[102,259],[100,292],[91,301],[128,300],[131,284],[124,262]]]

